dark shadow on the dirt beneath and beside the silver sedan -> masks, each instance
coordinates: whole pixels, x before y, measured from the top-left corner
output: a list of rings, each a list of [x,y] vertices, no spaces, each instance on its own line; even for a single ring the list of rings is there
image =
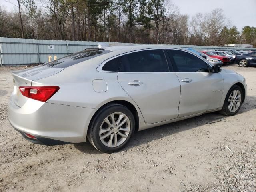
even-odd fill
[[[239,114],[242,114],[244,112],[247,112],[253,109],[256,109],[256,97],[247,96],[246,101],[242,104],[242,107],[240,108],[239,112],[236,115],[239,116]],[[225,120],[226,118],[227,116],[221,115],[218,112],[212,112],[212,113],[203,114],[197,117],[189,118],[186,120],[181,120],[178,122],[173,122],[173,123],[169,123],[162,126],[157,126],[147,130],[142,130],[134,134],[131,141],[127,144],[127,146],[123,150],[128,150],[130,148],[138,147],[152,140],[158,140],[160,138],[164,138],[165,136],[174,135],[178,132],[186,131],[188,129],[193,129],[198,126],[203,126],[205,124],[211,124],[214,122],[222,121],[222,120]],[[74,147],[83,153],[90,153],[90,154],[102,153],[96,150],[88,140],[86,143],[74,144]]]

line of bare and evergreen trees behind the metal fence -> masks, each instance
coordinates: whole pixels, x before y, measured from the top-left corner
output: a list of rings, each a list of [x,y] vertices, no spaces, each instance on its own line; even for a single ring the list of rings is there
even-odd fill
[[[8,3],[8,0],[5,0]],[[256,27],[240,33],[222,9],[189,17],[168,0],[16,0],[0,7],[0,36],[152,44],[256,46]]]

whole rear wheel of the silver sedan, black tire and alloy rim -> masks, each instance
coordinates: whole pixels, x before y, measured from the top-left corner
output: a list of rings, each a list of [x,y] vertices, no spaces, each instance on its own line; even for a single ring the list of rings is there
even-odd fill
[[[120,121],[118,122],[119,118]],[[123,122],[124,120],[126,122]],[[134,131],[135,119],[132,112],[126,106],[110,104],[94,116],[87,137],[99,151],[114,153],[126,146]]]

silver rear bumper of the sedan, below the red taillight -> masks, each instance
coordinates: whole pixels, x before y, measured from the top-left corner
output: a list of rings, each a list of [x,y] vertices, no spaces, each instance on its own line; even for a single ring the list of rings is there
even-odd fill
[[[37,144],[55,145],[86,141],[88,124],[96,109],[44,103],[28,99],[17,106],[11,96],[10,124],[24,138]],[[29,138],[26,134],[34,136]]]

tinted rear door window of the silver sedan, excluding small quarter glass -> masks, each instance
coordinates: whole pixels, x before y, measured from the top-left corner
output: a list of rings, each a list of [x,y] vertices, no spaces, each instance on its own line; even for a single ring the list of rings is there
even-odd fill
[[[122,56],[120,72],[169,72],[162,49],[144,50]]]

